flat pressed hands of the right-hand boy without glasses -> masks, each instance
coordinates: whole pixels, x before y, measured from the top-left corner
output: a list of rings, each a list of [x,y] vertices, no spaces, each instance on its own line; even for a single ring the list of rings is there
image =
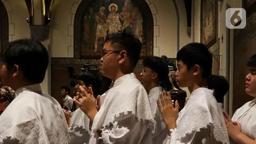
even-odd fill
[[[175,108],[172,104],[172,98],[170,92],[165,92],[159,94],[160,100],[157,100],[157,106],[161,111],[161,115],[163,118],[164,123],[168,127],[168,129],[175,129],[176,128],[176,119],[178,118],[179,113],[179,103],[175,101]],[[169,131],[169,134],[170,131]]]

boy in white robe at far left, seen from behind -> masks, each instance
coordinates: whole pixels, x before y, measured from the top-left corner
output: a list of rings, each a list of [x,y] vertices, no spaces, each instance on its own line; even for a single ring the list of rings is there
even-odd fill
[[[39,84],[48,61],[44,45],[33,39],[13,41],[4,51],[0,76],[15,99],[0,116],[0,143],[69,143],[61,106]]]

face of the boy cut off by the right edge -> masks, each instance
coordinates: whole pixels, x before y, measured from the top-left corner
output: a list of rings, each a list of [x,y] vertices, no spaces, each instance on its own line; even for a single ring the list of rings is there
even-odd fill
[[[256,97],[256,66],[248,67],[249,74],[245,77],[245,92]]]

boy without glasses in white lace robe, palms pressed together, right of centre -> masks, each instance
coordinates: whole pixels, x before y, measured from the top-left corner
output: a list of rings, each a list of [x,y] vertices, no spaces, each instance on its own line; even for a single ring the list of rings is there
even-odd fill
[[[163,91],[158,107],[170,130],[165,143],[229,143],[222,109],[205,88],[212,69],[212,55],[201,43],[190,43],[177,53],[176,81],[180,87],[188,87],[190,98],[178,115],[169,92]]]

